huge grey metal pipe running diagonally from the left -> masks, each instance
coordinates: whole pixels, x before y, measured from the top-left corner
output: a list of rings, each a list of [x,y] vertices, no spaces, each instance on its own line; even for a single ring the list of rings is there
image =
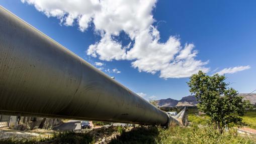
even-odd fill
[[[0,111],[140,124],[168,115],[0,7]]]

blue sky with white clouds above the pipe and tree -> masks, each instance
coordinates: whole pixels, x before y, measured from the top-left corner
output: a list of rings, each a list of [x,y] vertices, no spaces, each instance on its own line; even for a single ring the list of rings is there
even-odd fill
[[[189,95],[199,69],[256,89],[256,1],[55,2],[0,5],[146,99]]]

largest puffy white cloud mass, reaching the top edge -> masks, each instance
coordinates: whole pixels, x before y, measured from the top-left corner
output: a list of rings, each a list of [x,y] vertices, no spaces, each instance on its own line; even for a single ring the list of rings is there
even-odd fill
[[[189,77],[198,70],[209,71],[205,66],[208,61],[196,59],[198,52],[193,44],[182,45],[175,36],[160,42],[160,33],[153,25],[155,20],[151,13],[156,0],[21,1],[34,5],[47,17],[56,17],[60,24],[78,25],[82,32],[93,24],[91,28],[101,36],[101,40],[89,46],[87,55],[100,60],[129,60],[138,71],[159,72],[159,77],[164,79]],[[129,45],[115,39],[121,32],[129,37]],[[114,69],[109,71],[120,73]]]

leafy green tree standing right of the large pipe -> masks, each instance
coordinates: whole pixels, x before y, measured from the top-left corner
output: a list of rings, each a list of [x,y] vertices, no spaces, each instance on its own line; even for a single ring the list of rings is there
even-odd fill
[[[248,100],[238,96],[236,90],[227,87],[229,84],[224,82],[225,79],[224,75],[208,76],[199,71],[188,82],[190,92],[199,102],[198,109],[210,116],[220,133],[230,123],[243,124],[241,116],[245,114],[245,108],[251,106]]]

